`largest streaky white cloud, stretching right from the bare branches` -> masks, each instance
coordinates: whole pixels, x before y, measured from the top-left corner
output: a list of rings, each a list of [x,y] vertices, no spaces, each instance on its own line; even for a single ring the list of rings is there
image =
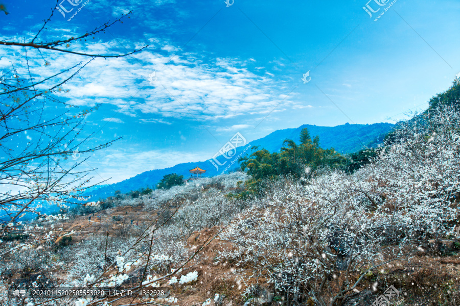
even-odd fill
[[[69,33],[68,36],[72,36]],[[67,37],[64,35],[63,39]],[[158,43],[158,40],[154,41]],[[163,42],[164,49],[174,46]],[[123,49],[120,48],[123,45]],[[160,46],[158,46],[160,47]],[[96,54],[120,54],[135,48],[129,41],[105,43],[84,42],[72,44],[72,49]],[[31,50],[31,53],[33,50]],[[34,66],[33,77],[37,80],[49,77],[57,69],[69,67],[81,61],[80,56],[42,52],[51,66],[37,54],[30,54]],[[16,57],[11,49],[0,50],[0,58]],[[3,63],[0,60],[0,66]],[[18,67],[27,75],[24,62]],[[8,64],[9,65],[9,64]],[[153,72],[156,82],[149,82]],[[57,94],[70,99],[78,106],[94,106],[96,103],[116,106],[114,111],[132,117],[156,114],[165,123],[165,118],[187,118],[200,121],[216,121],[250,114],[264,114],[280,103],[279,95],[286,93],[283,82],[274,82],[272,73],[258,75],[245,67],[245,61],[235,58],[216,58],[209,55],[181,54],[172,59],[157,50],[146,49],[130,57],[95,59],[62,87],[69,92]],[[62,76],[64,77],[64,76]],[[50,84],[43,84],[49,88]],[[292,104],[286,99],[283,105]],[[110,119],[106,119],[110,120]],[[121,122],[120,119],[114,119]],[[120,121],[118,121],[120,120]]]

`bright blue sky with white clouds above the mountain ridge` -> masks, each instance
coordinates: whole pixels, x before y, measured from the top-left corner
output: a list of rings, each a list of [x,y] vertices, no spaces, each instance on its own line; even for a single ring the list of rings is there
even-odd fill
[[[100,178],[118,182],[210,159],[236,132],[250,141],[302,124],[393,122],[426,108],[460,72],[460,3],[398,0],[374,21],[392,3],[378,1],[369,3],[380,8],[371,18],[365,0],[235,0],[228,7],[223,0],[90,0],[70,21],[73,12],[57,13],[40,37],[71,37],[133,11],[123,24],[69,49],[149,47],[131,57],[94,60],[59,97],[83,108],[102,103],[87,119],[89,131],[97,131],[94,140],[124,138],[89,164]],[[0,12],[0,35],[26,40],[55,5],[2,3],[10,14]],[[25,65],[21,48],[0,48],[0,56],[2,70],[10,62]],[[32,73],[41,76],[85,60],[36,50],[28,56]],[[304,84],[307,71],[311,81]]]

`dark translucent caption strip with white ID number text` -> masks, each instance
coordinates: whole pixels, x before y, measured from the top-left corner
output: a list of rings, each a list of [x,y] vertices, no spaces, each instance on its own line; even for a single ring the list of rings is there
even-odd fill
[[[8,291],[10,297],[19,298],[105,298],[105,297],[130,297],[130,298],[168,298],[170,289],[167,287],[142,288],[142,289],[107,289],[107,288],[52,288],[28,289],[16,288]]]

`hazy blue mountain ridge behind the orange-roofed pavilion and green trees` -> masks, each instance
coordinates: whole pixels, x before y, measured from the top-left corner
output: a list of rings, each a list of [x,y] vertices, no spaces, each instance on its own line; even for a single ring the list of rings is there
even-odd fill
[[[348,154],[356,152],[361,148],[375,147],[380,143],[390,130],[393,129],[394,124],[390,123],[374,123],[374,124],[343,124],[337,126],[316,126],[304,124],[296,129],[285,129],[274,131],[273,133],[251,141],[249,144],[251,147],[259,146],[259,149],[265,148],[270,152],[278,152],[283,146],[283,141],[285,139],[292,139],[296,142],[300,140],[300,133],[304,127],[310,131],[311,137],[319,136],[320,146],[323,148],[334,148],[336,151],[341,154]],[[240,146],[237,148],[235,156],[242,154],[243,150],[248,146]],[[244,154],[251,152],[251,149],[247,149]],[[210,156],[211,158],[211,156]],[[220,163],[223,163],[226,159],[218,157]],[[106,198],[112,196],[116,190],[121,191],[122,193],[129,192],[131,190],[137,190],[143,187],[150,187],[156,185],[164,175],[169,173],[177,173],[183,175],[185,178],[190,176],[189,169],[195,167],[200,167],[201,169],[206,170],[205,176],[215,176],[221,174],[222,171],[229,165],[228,171],[235,170],[239,167],[238,162],[234,161],[234,158],[228,159],[225,165],[219,166],[217,169],[210,160],[193,162],[193,163],[182,163],[177,164],[170,168],[165,169],[155,169],[137,174],[130,179],[124,180],[119,183],[105,185],[95,191],[91,192],[93,200],[99,198]]]

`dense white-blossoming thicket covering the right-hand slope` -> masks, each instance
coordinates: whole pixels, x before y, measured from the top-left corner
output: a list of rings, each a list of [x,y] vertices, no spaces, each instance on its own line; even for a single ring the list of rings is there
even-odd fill
[[[340,305],[371,270],[452,234],[460,195],[460,116],[439,107],[401,123],[348,175],[280,179],[222,235],[218,260],[250,267],[294,303]]]

